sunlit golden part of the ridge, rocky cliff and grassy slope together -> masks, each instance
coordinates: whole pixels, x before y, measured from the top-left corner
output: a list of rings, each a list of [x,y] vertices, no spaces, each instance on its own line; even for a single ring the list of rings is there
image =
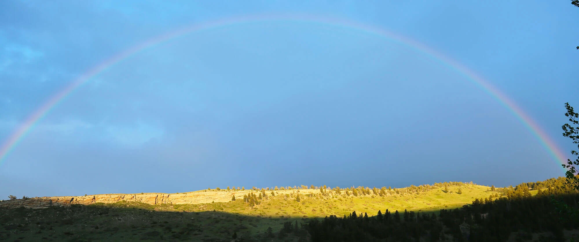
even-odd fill
[[[445,191],[448,189],[448,191]],[[458,193],[461,190],[460,194]],[[254,206],[240,204],[243,197],[255,195]],[[13,199],[0,207],[91,205],[95,203],[139,202],[160,210],[203,211],[206,208],[249,215],[285,215],[289,217],[324,217],[358,211],[374,215],[378,210],[435,211],[461,207],[476,198],[497,195],[490,187],[467,183],[438,183],[406,188],[323,188],[269,190],[200,190],[175,194],[100,194],[84,196],[50,196]],[[237,199],[232,201],[233,196]],[[299,202],[296,198],[299,196]],[[249,199],[248,199],[249,200]],[[244,201],[249,203],[250,201]],[[208,205],[217,203],[217,205]],[[211,209],[212,210],[212,209]]]

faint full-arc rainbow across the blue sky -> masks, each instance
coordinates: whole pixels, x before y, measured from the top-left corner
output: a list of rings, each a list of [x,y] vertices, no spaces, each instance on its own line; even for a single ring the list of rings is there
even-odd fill
[[[534,122],[529,115],[525,114],[525,112],[523,112],[523,110],[519,108],[514,101],[505,96],[504,93],[500,92],[499,89],[495,88],[488,81],[485,81],[481,76],[475,74],[474,71],[468,69],[466,66],[461,65],[460,63],[454,61],[453,59],[448,58],[447,56],[441,54],[440,52],[425,46],[422,43],[409,39],[408,37],[398,35],[390,31],[386,31],[385,29],[337,18],[327,18],[318,16],[245,16],[234,18],[222,18],[217,21],[210,21],[202,24],[189,25],[187,27],[171,31],[163,35],[153,37],[152,39],[146,40],[127,50],[119,52],[119,54],[116,54],[111,58],[107,59],[106,61],[102,62],[101,64],[89,69],[88,71],[86,71],[85,74],[80,75],[80,77],[72,81],[71,84],[66,86],[63,90],[54,94],[54,96],[50,97],[50,99],[48,99],[46,103],[41,105],[41,107],[36,109],[35,112],[33,112],[30,116],[28,116],[25,122],[20,124],[20,126],[12,133],[12,135],[10,135],[10,137],[6,139],[5,142],[2,143],[2,146],[0,146],[0,165],[4,160],[6,160],[6,157],[8,156],[10,151],[13,150],[18,145],[18,143],[26,136],[26,134],[30,132],[32,128],[34,128],[35,124],[38,123],[39,120],[41,120],[44,116],[46,116],[46,114],[48,114],[50,110],[56,107],[58,103],[63,101],[75,89],[78,89],[80,86],[90,81],[92,77],[94,77],[99,73],[102,73],[102,71],[109,69],[116,63],[119,63],[129,58],[130,56],[137,54],[140,51],[155,47],[158,44],[162,44],[165,41],[174,39],[187,33],[203,31],[211,28],[225,27],[228,25],[247,24],[251,22],[262,22],[262,21],[293,21],[306,23],[309,22],[336,27],[357,29],[358,31],[363,31],[383,37],[386,40],[394,41],[395,43],[402,44],[403,46],[409,47],[414,51],[426,54],[426,56],[428,56],[429,58],[442,63],[443,65],[449,67],[449,69],[457,71],[457,73],[460,73],[461,75],[466,77],[467,80],[479,86],[479,88],[481,88],[491,97],[499,101],[499,103],[503,105],[504,108],[508,109],[508,111],[510,111],[511,114],[514,115],[519,120],[519,122],[521,122],[530,131],[530,133],[532,133],[534,137],[537,138],[537,141],[541,143],[541,145],[545,148],[545,150],[547,150],[547,152],[552,156],[552,158],[555,161],[559,161],[562,164],[566,164],[567,160],[563,155],[563,153],[560,152],[560,150],[557,148],[555,142],[553,142],[551,138],[549,138],[549,136],[543,130],[541,130],[538,124]]]

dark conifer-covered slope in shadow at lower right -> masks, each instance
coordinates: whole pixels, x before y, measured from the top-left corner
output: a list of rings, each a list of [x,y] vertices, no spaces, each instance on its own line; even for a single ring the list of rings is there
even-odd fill
[[[472,205],[439,213],[415,211],[353,211],[330,215],[306,225],[312,241],[505,241],[530,240],[532,233],[549,232],[549,241],[564,241],[564,229],[579,228],[579,193],[569,184],[548,187],[536,196],[519,185],[500,198],[475,199]]]

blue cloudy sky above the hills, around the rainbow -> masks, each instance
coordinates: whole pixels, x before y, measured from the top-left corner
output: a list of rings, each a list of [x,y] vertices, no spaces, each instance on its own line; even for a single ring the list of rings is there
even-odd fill
[[[563,104],[579,107],[579,9],[569,1],[9,0],[0,2],[1,145],[107,65],[0,157],[0,195],[508,186],[564,175],[541,139],[456,65],[313,18],[452,59],[571,157],[560,128]]]

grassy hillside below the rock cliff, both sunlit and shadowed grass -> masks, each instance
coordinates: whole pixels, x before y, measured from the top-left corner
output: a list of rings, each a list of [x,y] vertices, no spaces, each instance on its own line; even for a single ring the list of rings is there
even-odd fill
[[[449,186],[448,193],[437,188],[418,195],[400,195],[393,192],[387,196],[346,197],[322,196],[319,190],[316,193],[314,190],[299,190],[301,202],[295,201],[298,190],[289,190],[280,191],[280,194],[273,198],[270,196],[254,207],[247,206],[242,201],[243,196],[236,195],[237,201],[195,205],[155,206],[119,202],[38,210],[11,209],[0,211],[0,214],[5,214],[0,216],[0,224],[5,227],[5,230],[0,231],[0,240],[21,238],[20,240],[28,241],[44,238],[54,241],[82,241],[107,238],[109,241],[228,241],[233,231],[237,231],[238,235],[261,236],[269,226],[277,232],[284,222],[303,221],[305,217],[324,217],[331,214],[343,216],[353,210],[374,215],[376,211],[386,209],[453,209],[471,203],[475,198],[485,198],[495,193],[485,186],[464,184],[460,187],[462,194],[456,193],[458,186]],[[232,191],[213,192],[230,194]],[[310,192],[312,195],[307,196]],[[195,213],[192,213],[193,211]]]

